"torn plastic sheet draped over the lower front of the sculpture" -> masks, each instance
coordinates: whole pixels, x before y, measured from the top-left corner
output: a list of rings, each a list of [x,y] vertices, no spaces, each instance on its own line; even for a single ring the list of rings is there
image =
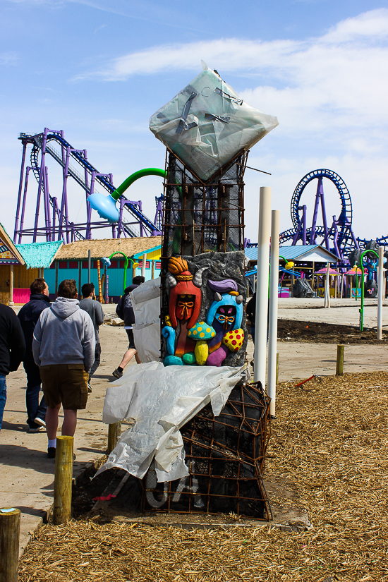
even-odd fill
[[[247,365],[178,366],[159,362],[131,366],[120,380],[109,384],[102,420],[128,420],[131,427],[97,475],[119,467],[143,478],[152,460],[158,482],[188,475],[180,428],[211,403],[214,416],[224,408],[231,390],[248,381]]]

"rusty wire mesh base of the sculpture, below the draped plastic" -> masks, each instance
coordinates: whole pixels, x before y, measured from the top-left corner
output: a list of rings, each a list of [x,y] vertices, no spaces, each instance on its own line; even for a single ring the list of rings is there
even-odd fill
[[[190,474],[157,483],[143,480],[143,510],[227,513],[272,518],[262,483],[269,439],[269,398],[260,382],[235,387],[219,416],[210,405],[181,428]]]

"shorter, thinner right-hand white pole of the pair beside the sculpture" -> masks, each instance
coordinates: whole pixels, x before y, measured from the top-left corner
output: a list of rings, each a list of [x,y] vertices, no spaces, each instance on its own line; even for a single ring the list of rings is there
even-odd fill
[[[276,368],[277,368],[277,304],[279,288],[279,234],[280,212],[272,210],[271,224],[271,279],[269,284],[269,335],[268,335],[268,396],[269,411],[275,418]]]

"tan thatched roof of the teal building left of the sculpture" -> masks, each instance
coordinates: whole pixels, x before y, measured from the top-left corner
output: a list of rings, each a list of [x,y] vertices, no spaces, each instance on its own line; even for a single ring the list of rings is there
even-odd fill
[[[57,253],[56,260],[86,260],[90,249],[92,259],[109,257],[112,253],[120,252],[127,257],[135,254],[147,253],[162,244],[161,236],[138,236],[136,238],[97,238],[94,241],[75,241],[63,245]],[[119,256],[119,255],[118,255]]]

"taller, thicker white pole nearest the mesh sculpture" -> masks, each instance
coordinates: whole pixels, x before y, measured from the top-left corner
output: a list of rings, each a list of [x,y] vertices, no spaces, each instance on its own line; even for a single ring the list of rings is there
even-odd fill
[[[255,371],[253,379],[265,388],[265,356],[267,352],[269,236],[271,224],[271,188],[260,188],[259,236],[257,244],[257,284],[255,322]]]

